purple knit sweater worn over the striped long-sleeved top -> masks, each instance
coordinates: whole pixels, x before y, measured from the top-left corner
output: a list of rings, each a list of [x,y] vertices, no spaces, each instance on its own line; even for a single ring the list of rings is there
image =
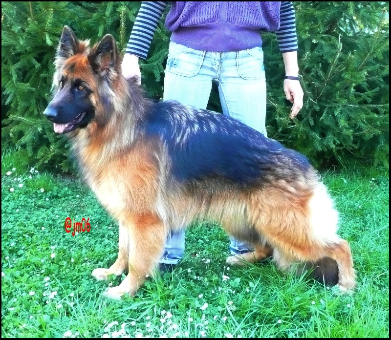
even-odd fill
[[[173,1],[166,27],[171,41],[208,51],[262,45],[260,30],[280,27],[280,1]]]

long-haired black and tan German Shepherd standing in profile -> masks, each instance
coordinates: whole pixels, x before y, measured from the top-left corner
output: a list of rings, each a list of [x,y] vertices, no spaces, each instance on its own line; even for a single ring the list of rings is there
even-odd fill
[[[170,231],[194,218],[216,221],[284,270],[315,264],[321,281],[355,287],[350,247],[318,173],[300,153],[240,122],[175,101],[146,99],[121,74],[111,35],[89,47],[64,27],[53,100],[43,114],[66,133],[88,185],[119,222],[118,258],[92,275],[128,271],[105,295],[137,292]],[[243,264],[229,256],[229,264]],[[336,282],[335,282],[336,283]]]

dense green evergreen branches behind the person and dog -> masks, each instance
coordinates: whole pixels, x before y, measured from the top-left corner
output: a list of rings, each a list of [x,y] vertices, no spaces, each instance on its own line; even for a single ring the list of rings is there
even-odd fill
[[[66,139],[42,112],[50,101],[53,62],[64,25],[80,39],[113,34],[124,52],[141,2],[3,1],[1,7],[2,146],[30,166],[69,169]],[[268,136],[316,164],[348,158],[389,162],[389,3],[294,2],[304,107],[294,121],[282,90],[284,68],[274,33],[262,33]],[[166,13],[168,8],[166,9]],[[163,16],[164,20],[164,16]],[[143,86],[161,99],[170,33],[163,20]],[[209,108],[220,110],[216,87]]]

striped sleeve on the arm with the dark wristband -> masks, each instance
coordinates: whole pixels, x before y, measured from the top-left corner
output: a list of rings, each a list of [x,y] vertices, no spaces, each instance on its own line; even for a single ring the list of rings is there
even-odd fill
[[[276,31],[282,53],[297,51],[296,16],[292,1],[281,1],[280,28]]]

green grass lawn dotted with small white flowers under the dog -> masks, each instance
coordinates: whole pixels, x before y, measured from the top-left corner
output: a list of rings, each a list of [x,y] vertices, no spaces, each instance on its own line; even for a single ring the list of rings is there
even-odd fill
[[[30,172],[5,152],[1,336],[388,338],[388,172],[352,167],[322,176],[353,254],[352,296],[282,273],[270,261],[227,268],[227,236],[217,225],[195,224],[172,274],[112,301],[101,293],[124,276],[97,282],[91,272],[115,261],[117,225],[80,181]],[[89,217],[90,232],[66,233],[66,217]]]

